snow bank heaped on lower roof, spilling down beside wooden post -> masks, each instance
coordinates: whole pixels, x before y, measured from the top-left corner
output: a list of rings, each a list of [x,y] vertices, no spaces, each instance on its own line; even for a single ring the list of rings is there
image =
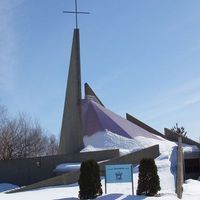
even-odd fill
[[[158,136],[158,139],[136,136],[129,139],[111,131],[97,132],[91,136],[84,137],[83,151],[102,150],[102,149],[116,149],[118,148],[120,154],[127,154],[138,151],[153,145],[159,145],[161,155],[155,160],[158,167],[158,174],[160,177],[161,192],[175,193],[175,177],[176,177],[176,163],[177,152],[175,142],[171,142]],[[138,168],[134,169],[134,183],[137,187]]]

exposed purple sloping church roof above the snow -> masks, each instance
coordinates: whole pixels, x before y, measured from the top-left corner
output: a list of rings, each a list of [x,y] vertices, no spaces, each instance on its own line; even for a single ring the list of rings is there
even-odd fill
[[[127,138],[143,136],[160,140],[160,137],[115,114],[91,99],[82,100],[82,111],[84,135],[90,136],[107,129]]]

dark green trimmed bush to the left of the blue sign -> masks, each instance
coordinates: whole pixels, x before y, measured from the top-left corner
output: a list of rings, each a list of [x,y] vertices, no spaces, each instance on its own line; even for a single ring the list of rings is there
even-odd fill
[[[94,160],[82,162],[80,169],[79,198],[94,199],[102,195],[99,165]]]

